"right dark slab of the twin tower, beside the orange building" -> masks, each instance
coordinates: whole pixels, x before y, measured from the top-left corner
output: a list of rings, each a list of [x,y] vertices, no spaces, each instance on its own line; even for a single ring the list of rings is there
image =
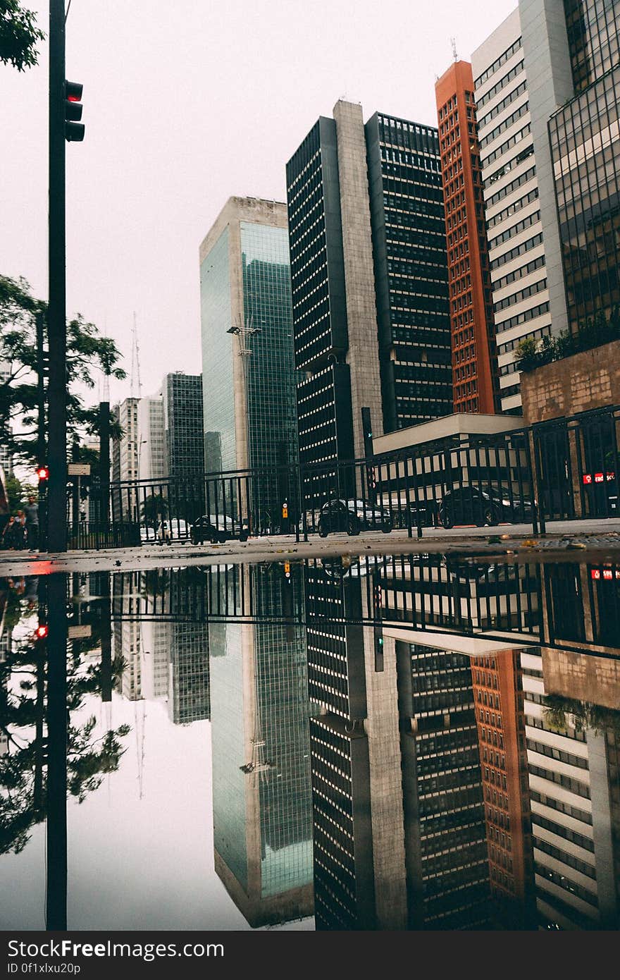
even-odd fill
[[[437,129],[365,125],[385,432],[453,411],[448,255]]]

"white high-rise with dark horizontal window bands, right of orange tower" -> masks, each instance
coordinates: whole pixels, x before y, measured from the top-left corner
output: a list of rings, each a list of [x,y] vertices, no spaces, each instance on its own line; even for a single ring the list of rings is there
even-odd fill
[[[551,209],[543,216],[539,150],[543,158],[545,150],[535,145],[518,10],[473,52],[471,62],[501,411],[518,415],[521,395],[515,348],[526,337],[540,339],[558,333],[566,323],[562,295],[554,295],[555,316],[550,302],[548,265],[557,268],[561,264],[559,239]]]

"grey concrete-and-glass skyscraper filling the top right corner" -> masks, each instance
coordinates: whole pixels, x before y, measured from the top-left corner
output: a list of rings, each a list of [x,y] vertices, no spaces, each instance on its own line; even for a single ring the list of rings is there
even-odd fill
[[[575,331],[620,305],[620,3],[521,0],[519,10],[526,67],[545,58],[547,90],[557,92],[540,98],[538,115]],[[542,94],[532,93],[533,106]]]

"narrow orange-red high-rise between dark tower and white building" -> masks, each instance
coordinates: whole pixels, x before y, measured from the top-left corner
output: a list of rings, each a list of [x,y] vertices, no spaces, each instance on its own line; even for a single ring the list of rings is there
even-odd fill
[[[499,411],[498,356],[474,80],[455,61],[435,83],[446,205],[454,412]]]

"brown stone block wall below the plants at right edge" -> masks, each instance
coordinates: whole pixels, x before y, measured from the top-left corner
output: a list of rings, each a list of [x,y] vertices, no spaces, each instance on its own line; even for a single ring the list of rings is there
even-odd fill
[[[526,425],[620,405],[620,340],[521,374]]]

